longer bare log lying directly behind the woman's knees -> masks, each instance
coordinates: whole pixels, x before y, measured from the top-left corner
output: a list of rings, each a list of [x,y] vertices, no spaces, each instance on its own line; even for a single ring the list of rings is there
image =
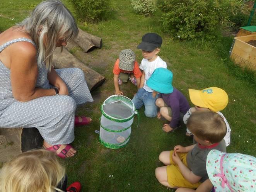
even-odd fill
[[[102,85],[102,83],[106,80],[104,76],[87,67],[79,59],[69,53],[67,48],[63,48],[62,52],[61,48],[56,48],[53,54],[53,66],[56,69],[76,67],[83,70],[85,80],[90,91]]]

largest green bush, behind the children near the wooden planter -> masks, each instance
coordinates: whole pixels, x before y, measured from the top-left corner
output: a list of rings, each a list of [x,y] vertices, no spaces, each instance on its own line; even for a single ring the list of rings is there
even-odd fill
[[[180,39],[212,37],[234,25],[230,17],[242,11],[242,0],[158,0],[164,31]]]

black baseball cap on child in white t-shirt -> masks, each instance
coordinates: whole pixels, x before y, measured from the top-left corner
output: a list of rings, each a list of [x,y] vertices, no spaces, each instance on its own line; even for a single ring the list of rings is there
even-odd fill
[[[145,51],[154,51],[155,48],[160,48],[162,45],[162,37],[156,33],[147,33],[143,35],[142,42],[138,45],[138,49]]]

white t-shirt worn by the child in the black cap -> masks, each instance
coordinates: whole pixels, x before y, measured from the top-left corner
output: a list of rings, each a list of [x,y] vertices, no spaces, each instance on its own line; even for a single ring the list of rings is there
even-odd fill
[[[148,59],[142,59],[140,63],[140,69],[145,72],[145,81],[143,88],[148,92],[153,92],[151,88],[149,88],[146,84],[147,80],[150,78],[152,73],[157,68],[167,68],[166,62],[163,61],[159,56],[155,59],[155,61],[149,62]]]

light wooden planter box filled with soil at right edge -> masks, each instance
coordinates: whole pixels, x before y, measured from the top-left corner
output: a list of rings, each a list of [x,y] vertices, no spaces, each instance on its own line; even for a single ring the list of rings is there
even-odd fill
[[[230,58],[241,67],[256,71],[256,47],[247,43],[252,40],[256,40],[256,34],[235,37],[229,54]]]

